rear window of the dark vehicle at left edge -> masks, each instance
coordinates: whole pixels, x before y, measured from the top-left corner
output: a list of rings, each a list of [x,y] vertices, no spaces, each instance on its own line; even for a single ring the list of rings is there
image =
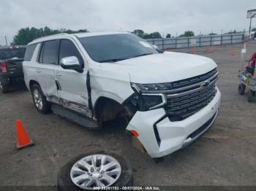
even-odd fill
[[[24,58],[25,50],[26,48],[7,48],[0,50],[0,60],[6,60],[10,58]]]

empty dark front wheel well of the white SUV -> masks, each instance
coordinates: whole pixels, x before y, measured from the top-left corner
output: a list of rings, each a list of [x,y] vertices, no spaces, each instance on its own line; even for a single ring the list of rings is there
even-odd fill
[[[127,109],[117,101],[110,98],[100,97],[94,106],[94,116],[97,120],[105,122],[116,117],[129,116]]]

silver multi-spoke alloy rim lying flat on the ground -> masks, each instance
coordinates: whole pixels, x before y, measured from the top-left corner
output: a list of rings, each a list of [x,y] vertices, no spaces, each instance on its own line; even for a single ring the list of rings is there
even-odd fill
[[[78,187],[109,187],[121,175],[121,165],[108,155],[89,155],[76,162],[70,170],[70,178]]]

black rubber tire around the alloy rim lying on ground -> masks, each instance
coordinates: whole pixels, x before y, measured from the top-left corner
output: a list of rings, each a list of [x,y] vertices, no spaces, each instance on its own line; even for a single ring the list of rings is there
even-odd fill
[[[72,166],[83,157],[89,156],[89,155],[108,155],[110,157],[113,157],[118,161],[118,163],[121,165],[121,175],[117,179],[117,181],[110,185],[110,187],[122,187],[122,186],[132,186],[133,179],[132,179],[132,168],[130,167],[129,163],[127,163],[127,160],[124,159],[124,157],[121,157],[120,155],[116,154],[116,152],[107,152],[107,151],[92,151],[87,152],[86,154],[79,155],[78,157],[75,157],[73,160],[70,160],[69,163],[64,165],[64,167],[61,168],[61,171],[59,172],[59,177],[57,181],[57,187],[59,191],[72,191],[72,190],[82,190],[80,187],[75,185],[75,183],[72,182],[70,178],[70,171],[72,169]],[[91,187],[93,189],[93,187]]]

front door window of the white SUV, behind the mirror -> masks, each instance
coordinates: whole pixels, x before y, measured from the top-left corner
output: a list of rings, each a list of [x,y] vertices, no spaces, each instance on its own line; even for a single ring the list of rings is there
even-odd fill
[[[76,58],[78,58],[80,65],[83,67],[83,58],[81,57],[77,47],[75,47],[75,44],[73,44],[73,42],[71,42],[70,40],[63,39],[61,40],[61,45],[59,49],[59,61],[61,61],[61,58],[69,56],[75,56]]]

